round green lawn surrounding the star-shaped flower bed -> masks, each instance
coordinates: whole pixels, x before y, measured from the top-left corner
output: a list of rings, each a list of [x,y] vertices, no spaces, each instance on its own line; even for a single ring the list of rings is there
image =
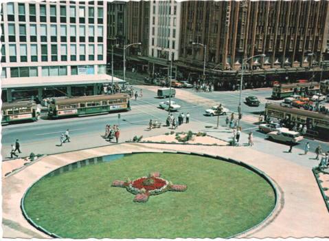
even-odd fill
[[[188,190],[138,203],[111,187],[152,171]],[[273,189],[253,171],[179,154],[134,154],[75,169],[37,182],[25,198],[27,215],[63,238],[227,238],[262,222],[274,205]]]

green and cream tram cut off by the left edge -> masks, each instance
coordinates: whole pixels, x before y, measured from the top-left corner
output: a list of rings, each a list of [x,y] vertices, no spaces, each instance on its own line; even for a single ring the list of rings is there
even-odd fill
[[[1,125],[22,121],[38,121],[38,112],[34,101],[2,103],[1,112]]]

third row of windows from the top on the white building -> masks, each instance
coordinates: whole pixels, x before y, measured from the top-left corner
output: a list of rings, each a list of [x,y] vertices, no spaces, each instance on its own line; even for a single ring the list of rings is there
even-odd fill
[[[38,62],[38,46],[36,44],[31,44],[30,46],[30,61]],[[95,61],[95,45],[89,44],[88,47],[88,60]],[[60,48],[60,52],[58,53],[58,48]],[[60,61],[77,61],[77,48],[79,50],[79,60],[86,61],[86,45],[85,44],[71,44],[69,45],[69,56],[67,50],[67,44],[61,44],[60,47],[57,44],[50,45],[50,60],[58,61],[58,54],[60,54]],[[104,47],[102,44],[96,45],[97,48],[97,60],[102,61],[104,59]],[[19,45],[20,50],[20,62],[27,62],[27,45],[21,44]],[[41,61],[47,62],[50,61],[48,59],[48,45],[41,44]],[[7,62],[5,59],[5,45],[2,45],[1,48],[1,63]],[[16,54],[16,44],[9,45],[9,62],[18,62],[17,54]]]

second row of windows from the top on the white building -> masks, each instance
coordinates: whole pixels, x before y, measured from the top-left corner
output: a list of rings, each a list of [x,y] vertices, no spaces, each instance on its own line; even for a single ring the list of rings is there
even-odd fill
[[[27,42],[27,28],[30,30],[30,41],[31,42],[48,42],[48,34],[47,34],[47,25],[40,25],[40,39],[38,40],[37,34],[37,25],[36,24],[19,24],[19,38],[16,38],[16,30],[14,23],[8,23],[8,41],[9,42]],[[50,25],[50,42],[77,42],[77,28],[79,31],[79,42],[86,42],[86,26],[85,25],[69,25],[69,33],[68,33],[67,25],[60,25],[60,31],[58,34],[58,26]],[[93,43],[97,38],[97,42],[103,42],[103,26],[97,26],[95,29],[94,25],[87,26],[88,30],[88,41]],[[95,36],[95,30],[97,31],[97,36]],[[4,24],[1,23],[1,42],[5,41],[5,28]],[[69,34],[69,38],[67,35]]]

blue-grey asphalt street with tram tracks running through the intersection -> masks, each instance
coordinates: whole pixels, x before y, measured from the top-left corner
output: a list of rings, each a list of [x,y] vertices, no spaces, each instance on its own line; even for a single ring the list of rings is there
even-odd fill
[[[157,119],[158,123],[165,124],[168,116],[168,111],[159,108],[159,103],[162,101],[168,101],[168,98],[157,98],[158,86],[155,85],[133,85],[135,91],[140,93],[143,91],[144,96],[131,98],[131,111],[121,112],[120,119],[116,113],[97,115],[97,116],[85,116],[85,117],[73,117],[64,118],[59,120],[48,120],[47,116],[40,116],[37,123],[21,123],[15,125],[4,126],[2,130],[2,149],[1,154],[3,160],[9,160],[10,145],[14,144],[16,138],[19,138],[21,143],[21,150],[23,154],[20,156],[28,156],[30,152],[34,154],[56,154],[63,151],[73,151],[78,149],[87,149],[91,147],[100,147],[109,145],[109,141],[106,140],[103,135],[106,125],[118,125],[120,124],[120,143],[126,140],[132,140],[134,136],[153,136],[155,131],[165,134],[172,131],[168,127],[161,127],[161,129],[149,131],[147,128],[150,119]],[[273,154],[273,151],[288,151],[289,146],[284,143],[275,143],[266,140],[266,134],[258,131],[258,125],[254,124],[258,122],[258,116],[264,112],[264,106],[267,101],[273,101],[269,97],[271,96],[271,89],[259,89],[259,90],[244,90],[242,92],[242,120],[240,125],[242,126],[242,135],[247,136],[250,131],[253,132],[255,145],[251,148],[264,153]],[[261,104],[259,107],[250,107],[244,103],[247,96],[258,96]],[[234,112],[235,118],[237,118],[237,110],[239,104],[240,92],[195,92],[192,89],[177,89],[177,94],[172,101],[176,101],[181,105],[179,112],[172,112],[174,117],[177,117],[179,113],[183,112],[185,115],[190,113],[190,123],[188,125],[183,124],[176,132],[188,128],[192,132],[201,131],[208,132],[214,136],[222,132],[218,138],[223,140],[230,140],[231,130],[225,125],[226,116],[219,116],[219,128],[205,128],[206,126],[216,127],[217,116],[205,116],[205,109],[209,109],[212,106],[218,106],[221,103],[224,107],[229,109],[229,116],[231,112]],[[281,101],[273,101],[280,103]],[[71,143],[65,143],[63,147],[60,147],[60,134],[64,134],[66,129],[70,130]],[[217,133],[216,133],[217,132]],[[299,145],[294,147],[294,152],[302,154],[304,153],[305,143],[310,142],[310,152],[308,157],[312,160],[315,158],[315,154],[311,152],[315,151],[317,145],[321,144],[323,151],[329,150],[328,143],[323,143],[318,140],[304,139]],[[275,152],[274,152],[275,153]],[[284,153],[285,154],[285,153]],[[305,159],[305,157],[301,158]],[[308,160],[308,158],[306,158]],[[293,160],[298,163],[298,160]],[[299,163],[309,167],[317,165],[317,161],[314,160],[310,163]]]

